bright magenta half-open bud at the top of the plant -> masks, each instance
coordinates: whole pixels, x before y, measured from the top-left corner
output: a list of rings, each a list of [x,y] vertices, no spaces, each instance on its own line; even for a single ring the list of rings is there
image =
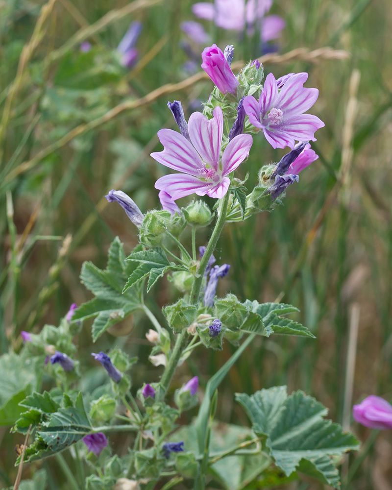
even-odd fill
[[[239,82],[230,65],[216,44],[205,48],[201,53],[201,68],[208,74],[223,95],[236,95]]]

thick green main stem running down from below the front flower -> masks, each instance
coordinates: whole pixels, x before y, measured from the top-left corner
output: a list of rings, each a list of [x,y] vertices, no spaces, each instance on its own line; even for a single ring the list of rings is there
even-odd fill
[[[199,301],[199,296],[200,296],[200,289],[201,289],[201,284],[203,281],[203,276],[204,276],[204,271],[206,270],[208,261],[210,260],[210,257],[218,243],[219,237],[221,235],[221,231],[223,228],[223,225],[226,221],[226,214],[227,214],[227,206],[229,203],[229,197],[230,193],[226,193],[226,195],[223,197],[221,201],[221,212],[219,214],[218,220],[215,224],[214,231],[212,232],[211,238],[208,242],[207,248],[205,249],[204,255],[200,261],[200,267],[198,272],[197,277],[195,277],[193,287],[192,287],[192,292],[191,292],[191,298],[190,298],[190,303],[196,305]],[[165,371],[162,374],[161,378],[161,386],[164,389],[162,393],[162,398],[165,396],[170,382],[172,381],[172,377],[175,371],[175,368],[177,367],[178,361],[181,357],[183,349],[186,347],[188,343],[188,332],[187,329],[184,328],[182,332],[177,336],[177,339],[174,344],[173,352],[172,355],[170,356],[168,365],[165,368]]]

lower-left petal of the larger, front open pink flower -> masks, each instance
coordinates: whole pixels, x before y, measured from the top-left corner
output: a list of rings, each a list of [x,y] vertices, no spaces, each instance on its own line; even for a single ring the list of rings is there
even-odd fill
[[[193,175],[183,173],[164,175],[155,182],[155,189],[165,191],[172,196],[173,201],[194,193],[198,196],[205,196],[211,187],[212,184],[206,183]]]

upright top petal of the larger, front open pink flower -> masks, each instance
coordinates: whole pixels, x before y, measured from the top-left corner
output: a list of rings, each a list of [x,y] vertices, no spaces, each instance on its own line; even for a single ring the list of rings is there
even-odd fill
[[[214,117],[208,121],[201,112],[194,112],[189,118],[188,131],[192,145],[204,162],[218,170],[223,135],[221,107],[216,107],[213,115]]]

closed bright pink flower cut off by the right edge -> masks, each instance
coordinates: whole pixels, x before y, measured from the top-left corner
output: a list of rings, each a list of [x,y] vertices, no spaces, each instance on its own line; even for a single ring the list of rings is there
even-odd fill
[[[392,429],[392,405],[380,396],[370,395],[352,409],[354,420],[371,429]]]

